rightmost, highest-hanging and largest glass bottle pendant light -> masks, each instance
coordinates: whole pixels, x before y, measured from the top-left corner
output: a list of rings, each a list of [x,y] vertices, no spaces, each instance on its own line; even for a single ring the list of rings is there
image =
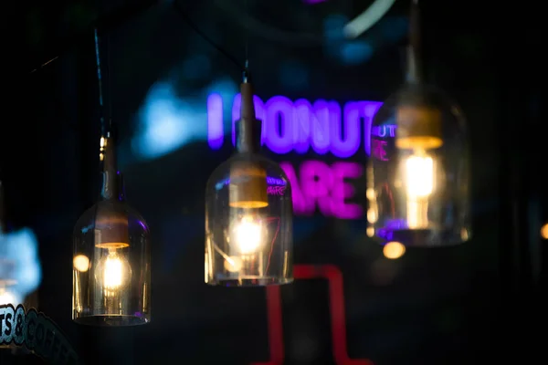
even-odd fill
[[[469,157],[458,105],[423,83],[418,2],[412,0],[407,78],[374,116],[367,235],[383,244],[469,240]]]

